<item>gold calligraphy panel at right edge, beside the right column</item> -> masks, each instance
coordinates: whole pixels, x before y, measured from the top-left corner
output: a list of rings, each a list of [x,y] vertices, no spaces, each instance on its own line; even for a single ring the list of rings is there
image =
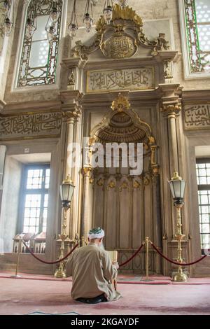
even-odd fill
[[[210,129],[210,104],[186,105],[184,122],[186,130]]]

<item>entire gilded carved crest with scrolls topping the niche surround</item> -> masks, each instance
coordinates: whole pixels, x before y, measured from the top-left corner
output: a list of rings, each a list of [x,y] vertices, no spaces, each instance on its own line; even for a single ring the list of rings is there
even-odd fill
[[[116,4],[113,6],[111,24],[107,25],[104,16],[101,16],[96,24],[92,45],[86,46],[81,41],[76,41],[71,55],[87,59],[87,55],[100,49],[107,58],[129,58],[137,52],[138,45],[151,48],[153,56],[158,55],[158,50],[169,50],[165,34],[159,34],[157,39],[151,41],[146,38],[142,27],[141,17],[135,10],[129,6],[122,8]]]

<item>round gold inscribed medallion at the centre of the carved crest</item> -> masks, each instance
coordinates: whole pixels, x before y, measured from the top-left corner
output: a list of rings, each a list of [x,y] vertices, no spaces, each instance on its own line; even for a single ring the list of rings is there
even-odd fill
[[[104,56],[114,59],[132,57],[137,52],[137,42],[123,31],[122,25],[116,26],[115,29],[114,34],[100,47]]]

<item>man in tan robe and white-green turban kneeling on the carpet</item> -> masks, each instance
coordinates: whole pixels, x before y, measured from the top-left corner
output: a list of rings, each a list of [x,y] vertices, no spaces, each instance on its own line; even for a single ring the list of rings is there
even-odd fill
[[[102,228],[90,230],[89,244],[77,248],[66,264],[66,276],[72,276],[71,297],[74,300],[97,304],[121,297],[112,285],[118,275],[118,262],[111,262],[103,248],[103,238]]]

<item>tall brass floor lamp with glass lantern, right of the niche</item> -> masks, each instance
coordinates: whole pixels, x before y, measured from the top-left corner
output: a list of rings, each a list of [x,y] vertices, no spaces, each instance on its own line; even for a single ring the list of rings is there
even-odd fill
[[[177,212],[177,223],[176,223],[176,234],[175,239],[178,242],[178,258],[177,262],[183,262],[182,258],[182,248],[181,248],[181,240],[184,239],[185,235],[182,234],[182,224],[181,224],[181,208],[183,207],[183,197],[186,188],[186,181],[184,181],[178,172],[174,172],[174,176],[169,181],[169,186],[172,192],[172,197],[174,199],[174,206],[176,207]],[[183,273],[181,265],[178,267],[178,272],[172,275],[172,281],[188,281],[188,276]]]

